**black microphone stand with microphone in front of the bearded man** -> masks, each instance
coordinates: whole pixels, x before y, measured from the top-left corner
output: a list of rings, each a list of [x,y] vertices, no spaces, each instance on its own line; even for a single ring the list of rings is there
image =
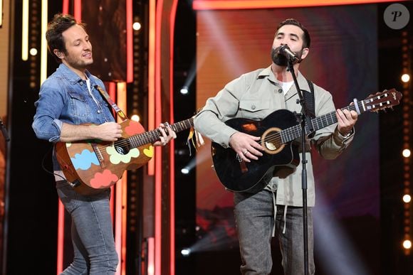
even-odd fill
[[[298,97],[300,98],[300,104],[302,106],[302,111],[300,115],[300,126],[301,126],[301,143],[302,143],[302,161],[303,164],[302,173],[301,173],[301,185],[303,188],[303,241],[304,241],[304,274],[308,275],[308,219],[307,219],[307,160],[305,159],[305,121],[307,120],[307,104],[301,93],[300,86],[298,85],[296,73],[294,72],[293,67],[293,58],[288,58],[287,70],[291,72],[293,76],[294,84],[296,85]],[[311,123],[308,123],[310,131],[313,131],[313,126]]]

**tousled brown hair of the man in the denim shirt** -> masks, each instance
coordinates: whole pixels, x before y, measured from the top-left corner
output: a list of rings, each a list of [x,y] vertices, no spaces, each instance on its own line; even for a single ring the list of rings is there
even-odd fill
[[[79,25],[85,28],[84,23],[76,21],[76,19],[70,14],[55,14],[52,21],[47,25],[46,41],[49,53],[60,63],[61,60],[53,53],[53,50],[57,49],[63,53],[66,52],[65,41],[63,40],[62,33],[71,26]]]

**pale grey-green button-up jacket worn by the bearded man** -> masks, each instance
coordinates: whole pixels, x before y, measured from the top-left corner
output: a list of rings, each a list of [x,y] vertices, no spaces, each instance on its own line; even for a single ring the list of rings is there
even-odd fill
[[[298,72],[298,85],[301,90],[310,91],[308,82]],[[330,92],[314,85],[315,116],[319,117],[335,111]],[[205,106],[194,118],[194,128],[204,136],[225,148],[229,147],[229,138],[236,132],[224,122],[228,119],[244,118],[261,120],[278,109],[288,109],[300,112],[295,85],[283,94],[276,81],[271,67],[248,72],[229,82],[215,97],[206,101]],[[310,144],[313,144],[321,156],[326,159],[336,158],[350,144],[353,134],[342,136],[337,130],[337,124],[319,129],[313,138],[307,139],[307,175],[308,175],[308,206],[315,205],[315,189],[313,163],[310,155]],[[300,150],[301,151],[301,150]],[[300,153],[301,157],[301,153]],[[275,176],[270,185],[276,186],[276,204],[302,206],[301,163],[288,176]],[[270,188],[271,188],[270,186]]]

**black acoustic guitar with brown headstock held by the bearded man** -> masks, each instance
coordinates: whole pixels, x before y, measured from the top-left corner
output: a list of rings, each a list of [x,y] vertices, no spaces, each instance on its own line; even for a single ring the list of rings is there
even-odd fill
[[[354,100],[354,104],[343,109],[363,112],[378,112],[399,104],[402,94],[396,90],[385,90],[370,95],[365,100]],[[338,122],[335,112],[324,114],[310,119],[310,124],[305,124],[305,135]],[[300,163],[298,144],[293,142],[301,136],[301,126],[296,114],[280,109],[268,115],[263,120],[229,119],[225,122],[237,131],[261,136],[258,141],[263,146],[263,156],[257,161],[247,163],[231,148],[211,143],[211,155],[214,170],[221,183],[227,190],[234,192],[256,192],[263,189],[272,178],[273,169],[287,166],[296,168]],[[311,131],[313,129],[313,131]]]

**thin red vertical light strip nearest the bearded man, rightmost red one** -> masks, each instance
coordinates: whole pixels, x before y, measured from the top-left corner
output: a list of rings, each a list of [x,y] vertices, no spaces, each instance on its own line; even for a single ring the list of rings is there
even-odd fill
[[[175,17],[177,15],[178,0],[173,0],[171,14],[169,17],[169,117],[171,124],[174,123],[174,28]],[[170,248],[169,248],[169,264],[170,275],[175,274],[175,143],[172,140],[170,143],[169,153],[169,217],[170,217]]]

